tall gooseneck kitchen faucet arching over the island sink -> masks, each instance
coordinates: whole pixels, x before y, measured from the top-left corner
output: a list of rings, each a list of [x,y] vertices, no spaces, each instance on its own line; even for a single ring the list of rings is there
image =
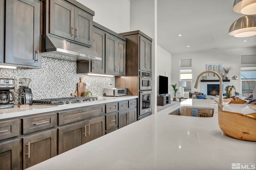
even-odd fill
[[[220,99],[219,99],[219,102],[217,102],[216,100],[215,100],[215,102],[218,104],[218,111],[223,110],[222,77],[220,76],[220,74],[219,74],[218,72],[212,71],[212,70],[207,70],[207,71],[201,72],[201,73],[198,75],[197,79],[196,79],[196,84],[195,84],[194,88],[198,88],[198,84],[199,84],[199,79],[200,79],[200,77],[201,77],[203,74],[208,73],[208,72],[213,73],[213,74],[216,74],[216,76],[218,76],[218,78],[219,78],[219,80],[220,80],[220,92],[219,92]]]

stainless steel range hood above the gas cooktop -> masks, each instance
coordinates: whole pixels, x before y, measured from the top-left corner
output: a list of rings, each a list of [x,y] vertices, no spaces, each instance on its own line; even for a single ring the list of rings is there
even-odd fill
[[[102,60],[92,47],[86,47],[52,35],[43,35],[42,40],[42,56],[69,61]]]

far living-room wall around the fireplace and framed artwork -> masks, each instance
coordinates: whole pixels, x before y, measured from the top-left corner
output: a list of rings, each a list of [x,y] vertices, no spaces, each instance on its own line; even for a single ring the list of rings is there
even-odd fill
[[[172,54],[172,83],[179,82],[180,59],[192,59],[192,91],[200,91],[194,88],[197,76],[206,70],[206,64],[222,63],[223,67],[232,66],[229,77],[240,75],[241,70],[241,55],[255,55],[256,48],[240,48],[240,49],[225,49],[215,51],[201,51],[194,53]],[[230,80],[230,85],[236,87],[236,92],[241,93],[241,82],[238,80]]]

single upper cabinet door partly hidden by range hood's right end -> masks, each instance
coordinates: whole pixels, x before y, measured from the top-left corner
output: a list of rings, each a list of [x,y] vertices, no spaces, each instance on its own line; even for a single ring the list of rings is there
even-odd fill
[[[105,73],[105,32],[93,27],[93,49],[102,61],[92,61],[92,72]]]

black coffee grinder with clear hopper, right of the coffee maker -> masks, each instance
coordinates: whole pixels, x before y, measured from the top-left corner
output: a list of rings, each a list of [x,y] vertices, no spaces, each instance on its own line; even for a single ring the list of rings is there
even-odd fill
[[[33,104],[33,95],[31,88],[28,88],[30,84],[30,78],[20,78],[20,88],[18,90],[19,97],[18,97],[18,104],[21,105],[32,105]]]

